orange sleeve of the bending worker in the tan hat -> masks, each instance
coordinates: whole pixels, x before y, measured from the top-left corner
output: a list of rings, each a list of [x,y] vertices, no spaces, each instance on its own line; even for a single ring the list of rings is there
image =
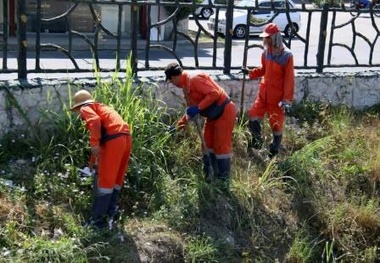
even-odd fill
[[[81,107],[80,116],[90,132],[90,146],[99,146],[101,137],[101,121],[99,115],[89,106]]]

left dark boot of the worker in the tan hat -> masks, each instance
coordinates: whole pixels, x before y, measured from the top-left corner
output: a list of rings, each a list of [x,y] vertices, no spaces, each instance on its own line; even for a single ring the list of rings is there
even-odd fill
[[[90,226],[103,229],[108,226],[108,207],[112,194],[97,194],[92,204],[92,216]]]

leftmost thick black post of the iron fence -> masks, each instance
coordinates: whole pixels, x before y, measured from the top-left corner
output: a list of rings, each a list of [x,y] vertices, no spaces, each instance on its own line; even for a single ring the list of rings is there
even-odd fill
[[[17,42],[18,42],[18,78],[26,79],[26,51],[27,51],[27,40],[26,40],[26,21],[27,16],[25,12],[25,1],[17,1]]]

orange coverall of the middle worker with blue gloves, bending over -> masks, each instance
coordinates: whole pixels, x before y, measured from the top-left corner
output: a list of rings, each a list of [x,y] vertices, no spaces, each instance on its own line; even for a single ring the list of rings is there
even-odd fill
[[[205,73],[190,75],[184,71],[181,76],[180,86],[187,90],[190,104],[188,106],[197,105],[201,111],[214,102],[220,105],[228,98],[225,90]],[[236,108],[231,101],[226,104],[223,114],[219,118],[215,120],[206,118],[204,138],[208,150],[215,153],[217,159],[231,157],[235,117]],[[186,122],[187,116],[184,115],[179,124]]]

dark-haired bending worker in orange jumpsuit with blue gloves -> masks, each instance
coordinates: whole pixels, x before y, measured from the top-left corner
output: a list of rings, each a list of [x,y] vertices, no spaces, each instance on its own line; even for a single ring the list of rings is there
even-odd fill
[[[165,75],[166,81],[185,89],[185,96],[187,94],[186,114],[178,121],[177,126],[185,127],[197,114],[206,117],[203,133],[208,152],[208,155],[203,156],[206,180],[210,179],[207,167],[211,164],[217,178],[227,181],[231,173],[235,104],[225,90],[206,73],[190,74],[174,62],[167,65]]]

